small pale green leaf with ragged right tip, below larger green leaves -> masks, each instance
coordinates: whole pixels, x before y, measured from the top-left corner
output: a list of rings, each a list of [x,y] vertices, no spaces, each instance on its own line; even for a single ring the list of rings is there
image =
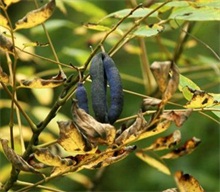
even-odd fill
[[[142,26],[138,28],[135,32],[134,35],[136,36],[142,36],[142,37],[151,37],[154,35],[157,35],[158,33],[163,31],[163,26],[154,24],[153,26]]]

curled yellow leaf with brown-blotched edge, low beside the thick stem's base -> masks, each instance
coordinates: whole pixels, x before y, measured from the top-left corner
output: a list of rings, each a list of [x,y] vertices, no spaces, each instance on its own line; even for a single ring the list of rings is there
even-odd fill
[[[47,148],[37,149],[34,153],[34,157],[48,166],[66,167],[76,164],[76,162],[70,158],[61,158],[58,155],[54,155]]]

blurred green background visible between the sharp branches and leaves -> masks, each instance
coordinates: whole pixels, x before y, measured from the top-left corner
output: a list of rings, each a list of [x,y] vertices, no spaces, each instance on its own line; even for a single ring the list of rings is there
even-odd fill
[[[109,13],[129,8],[134,1],[77,0],[76,2],[78,2],[78,7],[77,5],[71,7],[68,3],[61,4],[61,0],[60,2],[57,1],[58,8],[55,10],[52,17],[45,23],[45,26],[50,34],[60,62],[82,66],[91,52],[90,46],[95,47],[98,44],[100,37],[103,35],[103,33],[99,31],[86,29],[82,25],[88,22],[97,22]],[[86,2],[90,4],[87,4]],[[138,3],[140,2],[141,1],[138,1]],[[44,3],[44,1],[39,1],[39,6],[42,6]],[[62,9],[61,5],[63,5],[65,9]],[[18,19],[22,18],[25,13],[32,9],[34,9],[34,3],[32,1],[21,1],[11,5],[8,8],[8,11],[12,23],[15,23]],[[112,27],[117,21],[118,19],[108,19],[105,21],[105,24]],[[24,35],[32,42],[47,42],[47,38],[41,26],[20,30],[18,33]],[[167,27],[158,35],[159,37],[145,38],[149,63],[168,59],[163,53],[163,48],[160,47],[158,41],[162,41],[162,44],[169,53],[173,54],[180,33],[180,28]],[[218,55],[220,54],[219,22],[194,22],[191,34],[210,46]],[[116,38],[118,37],[116,36]],[[106,51],[110,50],[115,43],[113,35],[109,39],[110,40],[107,40],[104,44]],[[131,49],[129,49],[129,46]],[[157,95],[154,95],[154,92],[149,93],[142,82],[135,82],[131,78],[142,79],[139,55],[135,53],[135,48],[138,48],[138,46],[138,40],[137,38],[134,38],[113,56],[113,59],[122,74],[124,89],[157,97]],[[38,55],[54,59],[49,46],[36,47],[34,51]],[[3,69],[7,72],[6,59],[3,55],[1,55],[1,64]],[[201,89],[207,92],[219,93],[218,75],[220,63],[207,47],[197,42],[191,36],[188,37],[188,41],[177,65],[179,66],[180,72],[197,83]],[[75,73],[69,68],[64,68],[64,70],[67,76]],[[58,67],[56,64],[34,57],[31,57],[27,61],[19,60],[17,64],[17,73],[20,75],[19,78],[32,78],[34,76],[45,78],[54,76],[57,72]],[[90,83],[87,82],[85,86],[89,93]],[[62,87],[58,87],[52,91],[47,90],[44,93],[43,90],[40,89],[38,92],[41,96],[43,95],[43,98],[30,89],[19,89],[17,94],[18,99],[23,102],[27,113],[33,121],[37,123],[43,120],[49,109],[53,106],[53,103],[58,98],[61,90]],[[7,134],[9,135],[8,117],[10,115],[10,100],[2,89],[0,89],[0,91],[0,129],[1,137],[3,137]],[[46,98],[48,101],[44,102]],[[125,104],[121,117],[135,115],[140,109],[142,99],[142,97],[125,93]],[[178,104],[186,103],[186,100],[183,99],[179,91],[176,93],[172,101]],[[59,118],[62,118],[62,120],[71,118],[70,105],[71,101],[68,101],[59,111],[59,115],[63,116],[53,119],[45,130],[45,132],[48,132],[52,138],[57,138],[58,127],[56,126],[56,121],[61,120]],[[170,105],[167,106],[167,108],[173,109],[177,107]],[[217,117],[211,112],[205,113],[217,119]],[[21,118],[24,127],[27,126],[26,121],[23,117]],[[118,124],[116,126],[119,127],[120,125]],[[184,173],[191,174],[198,179],[205,191],[220,191],[219,124],[201,113],[193,112],[181,128],[172,125],[168,131],[159,136],[168,135],[176,129],[179,129],[182,133],[182,143],[194,136],[200,138],[202,143],[196,151],[190,155],[175,160],[165,160],[165,163],[171,169],[172,173],[182,170]],[[26,128],[24,132],[26,142],[28,142],[30,136],[30,130],[28,131],[28,128]],[[42,138],[42,140],[46,141],[51,139],[50,136],[46,136],[48,138]],[[135,144],[138,148],[145,147],[150,145],[151,142],[159,136],[156,135]],[[20,150],[19,146],[16,146],[16,148],[18,151]],[[9,173],[10,166],[2,151],[0,152],[0,160],[0,175],[1,179],[4,180],[7,178],[6,173]],[[98,177],[100,170],[83,170],[80,173],[88,176],[88,178],[93,181]],[[63,176],[50,181],[46,185],[53,187],[57,186],[64,191],[86,191],[86,187],[73,178],[75,173],[71,174],[73,175],[72,177]],[[79,176],[76,175],[76,177]],[[32,174],[22,173],[19,179],[34,183],[39,180],[39,177]],[[162,191],[176,186],[172,176],[167,176],[150,167],[138,159],[134,154],[131,154],[126,159],[105,168],[101,178],[97,180],[96,185],[97,189],[100,191]],[[36,189],[34,191],[40,190]]]

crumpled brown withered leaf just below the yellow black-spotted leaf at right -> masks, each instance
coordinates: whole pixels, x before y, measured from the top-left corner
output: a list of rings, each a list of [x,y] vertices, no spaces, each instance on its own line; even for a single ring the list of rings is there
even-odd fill
[[[191,113],[192,109],[188,109],[185,111],[170,111],[164,112],[161,115],[161,118],[174,121],[177,127],[181,127],[183,123],[188,119]]]

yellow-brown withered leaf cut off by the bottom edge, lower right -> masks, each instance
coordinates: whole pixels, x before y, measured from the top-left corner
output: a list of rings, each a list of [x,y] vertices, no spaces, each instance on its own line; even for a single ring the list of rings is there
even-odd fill
[[[183,174],[182,171],[177,171],[174,178],[180,192],[204,192],[199,182],[189,174]]]

